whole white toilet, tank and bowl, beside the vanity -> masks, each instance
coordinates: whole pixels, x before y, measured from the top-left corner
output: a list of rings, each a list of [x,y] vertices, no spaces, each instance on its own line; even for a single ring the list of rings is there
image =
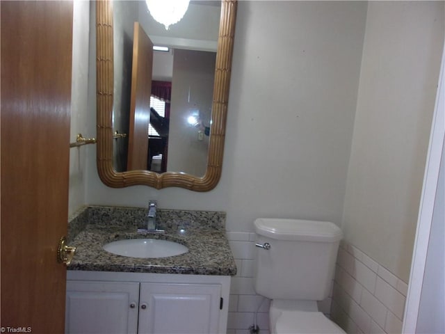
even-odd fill
[[[270,333],[346,333],[318,311],[329,296],[343,233],[334,223],[258,218],[254,288],[271,299]]]

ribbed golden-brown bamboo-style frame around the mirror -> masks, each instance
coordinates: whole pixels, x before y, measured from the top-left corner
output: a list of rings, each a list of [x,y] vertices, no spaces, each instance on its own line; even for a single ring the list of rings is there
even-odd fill
[[[177,172],[158,174],[149,170],[118,173],[113,168],[113,3],[111,0],[97,1],[97,171],[104,184],[113,188],[147,185],[163,189],[178,186],[193,191],[210,191],[218,184],[223,167],[236,7],[235,0],[221,1],[207,171],[203,177],[196,177]]]

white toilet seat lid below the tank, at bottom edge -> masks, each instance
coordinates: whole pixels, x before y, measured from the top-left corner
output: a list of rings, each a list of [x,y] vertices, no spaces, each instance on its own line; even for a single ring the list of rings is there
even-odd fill
[[[345,334],[337,324],[322,312],[283,311],[274,326],[277,334]]]

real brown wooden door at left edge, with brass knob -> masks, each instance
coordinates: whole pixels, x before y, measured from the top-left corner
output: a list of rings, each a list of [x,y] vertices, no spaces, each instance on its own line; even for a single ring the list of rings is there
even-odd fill
[[[1,326],[63,333],[71,1],[0,1]]]

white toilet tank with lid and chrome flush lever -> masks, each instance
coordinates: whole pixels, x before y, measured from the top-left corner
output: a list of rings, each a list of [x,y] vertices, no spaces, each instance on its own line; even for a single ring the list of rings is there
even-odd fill
[[[340,228],[327,221],[258,218],[255,290],[269,299],[321,301],[330,292]],[[268,245],[270,248],[268,248]],[[268,249],[266,249],[268,248]]]

